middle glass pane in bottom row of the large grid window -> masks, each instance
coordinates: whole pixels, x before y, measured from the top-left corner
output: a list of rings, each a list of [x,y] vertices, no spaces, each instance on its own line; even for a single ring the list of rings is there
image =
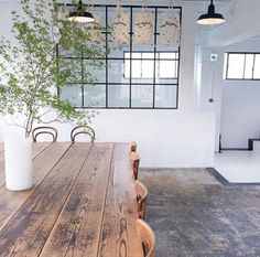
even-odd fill
[[[128,85],[108,85],[108,107],[129,107]]]

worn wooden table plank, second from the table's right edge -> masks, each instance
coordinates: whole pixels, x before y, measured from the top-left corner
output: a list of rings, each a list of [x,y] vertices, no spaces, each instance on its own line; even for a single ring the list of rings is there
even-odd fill
[[[97,256],[112,149],[94,144],[41,257]]]

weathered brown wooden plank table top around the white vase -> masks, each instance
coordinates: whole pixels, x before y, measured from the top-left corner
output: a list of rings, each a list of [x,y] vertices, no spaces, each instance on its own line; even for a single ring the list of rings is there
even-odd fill
[[[0,256],[141,257],[127,143],[33,143],[32,190],[4,186]]]

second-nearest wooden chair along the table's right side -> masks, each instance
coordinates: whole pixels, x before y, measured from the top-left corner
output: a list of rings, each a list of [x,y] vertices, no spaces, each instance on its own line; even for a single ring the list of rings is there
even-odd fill
[[[139,218],[144,219],[145,208],[147,208],[145,201],[148,197],[148,189],[143,183],[141,183],[138,180],[134,181],[134,186],[136,186],[136,191],[137,191]]]

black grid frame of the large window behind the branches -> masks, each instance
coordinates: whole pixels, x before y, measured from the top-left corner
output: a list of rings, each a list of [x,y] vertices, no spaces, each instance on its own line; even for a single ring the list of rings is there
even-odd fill
[[[75,4],[73,3],[67,3],[66,4],[67,7],[75,7]],[[105,39],[106,39],[106,47],[108,50],[108,34],[110,33],[108,31],[108,28],[109,28],[109,24],[108,24],[108,11],[113,9],[116,11],[116,8],[117,6],[116,4],[94,4],[93,6],[94,8],[97,7],[97,8],[105,8],[105,13],[106,13],[106,18],[105,18],[105,23],[106,23],[106,30],[102,31],[102,34],[105,34]],[[101,58],[105,61],[106,63],[106,67],[105,67],[105,72],[106,72],[106,76],[105,76],[105,82],[97,82],[97,83],[94,83],[94,85],[105,85],[106,86],[106,95],[105,95],[105,98],[106,98],[106,104],[105,106],[85,106],[85,103],[84,103],[84,97],[85,97],[85,86],[89,85],[89,84],[86,84],[84,82],[82,83],[69,83],[69,85],[80,85],[82,87],[82,105],[80,106],[75,106],[76,109],[177,109],[178,108],[178,92],[180,92],[180,69],[181,69],[181,46],[176,46],[176,50],[177,51],[158,51],[158,46],[156,46],[156,42],[158,42],[158,36],[159,36],[159,32],[158,32],[158,13],[160,10],[167,10],[169,7],[166,6],[148,6],[147,8],[149,9],[149,11],[153,11],[154,12],[154,19],[155,19],[155,22],[154,22],[154,46],[153,46],[153,51],[134,51],[133,50],[133,43],[132,43],[132,39],[133,39],[133,9],[139,9],[140,11],[142,10],[142,6],[132,6],[132,4],[122,4],[122,8],[123,9],[128,9],[129,10],[129,20],[130,20],[130,46],[129,46],[129,51],[122,51],[122,57],[111,57],[109,56],[109,54],[106,54],[106,58]],[[180,26],[182,28],[182,7],[173,7],[172,9],[174,10],[177,10],[177,13],[180,14]],[[180,32],[182,34],[182,30]],[[181,35],[180,35],[181,36]],[[151,84],[150,83],[134,83],[134,78],[130,78],[129,79],[129,83],[113,83],[113,82],[109,82],[108,79],[108,74],[109,74],[109,61],[123,61],[123,65],[124,65],[124,52],[130,52],[130,55],[131,53],[133,52],[151,52],[151,53],[154,53],[154,58],[153,61],[155,61],[155,54],[156,53],[163,53],[163,52],[174,52],[174,53],[177,53],[177,64],[176,64],[176,74],[177,74],[177,77],[176,78],[165,78],[165,77],[162,77],[161,79],[175,79],[176,83],[156,83],[156,77],[154,76],[155,74],[155,68],[154,68],[154,74],[153,74],[153,77],[152,78],[149,78],[151,81],[153,81]],[[58,47],[57,47],[57,56],[59,57],[59,54],[58,54]],[[73,57],[67,57],[67,58],[73,58]],[[85,62],[87,61],[88,58],[82,56],[82,61]],[[134,58],[133,58],[134,60]],[[165,58],[163,58],[165,60]],[[173,58],[169,58],[169,61],[173,61]],[[132,64],[130,64],[131,66]],[[155,62],[154,62],[154,66],[155,66]],[[130,67],[131,69],[131,67]],[[124,78],[124,67],[123,67],[123,73],[122,73],[122,77]],[[127,78],[128,79],[128,78]],[[140,79],[140,78],[139,78]],[[121,85],[121,86],[129,86],[129,105],[123,107],[123,106],[109,106],[108,104],[108,87],[109,86],[116,86],[116,85]],[[151,107],[134,107],[132,106],[132,97],[131,97],[131,90],[132,90],[132,86],[134,85],[149,85],[149,86],[153,86],[153,99],[152,99],[152,106]],[[171,86],[171,87],[176,87],[176,99],[174,101],[174,104],[176,103],[175,106],[173,107],[160,107],[160,106],[155,106],[155,93],[156,93],[156,86]],[[61,97],[61,92],[59,89],[57,89],[57,94],[58,96]],[[175,95],[175,94],[174,94]]]

